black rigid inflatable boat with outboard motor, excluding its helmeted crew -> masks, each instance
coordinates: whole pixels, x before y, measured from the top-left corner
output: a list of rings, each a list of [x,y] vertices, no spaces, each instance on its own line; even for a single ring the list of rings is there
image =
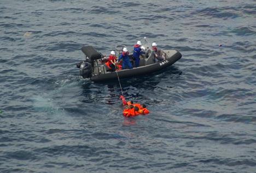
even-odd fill
[[[119,54],[122,48],[119,48]],[[108,71],[108,67],[102,62],[103,55],[98,53],[92,46],[82,47],[85,54],[85,61],[77,64],[80,69],[80,75],[83,78],[91,78],[92,81],[107,81],[110,79],[117,79],[117,72],[119,78],[133,77],[138,75],[145,75],[155,71],[164,69],[167,66],[174,64],[182,57],[182,54],[176,50],[159,50],[158,55],[164,58],[162,61],[155,61],[154,54],[150,49],[146,50],[144,58],[141,57],[139,67],[133,69],[118,70],[115,72]],[[129,54],[130,60],[133,64],[132,54]]]

